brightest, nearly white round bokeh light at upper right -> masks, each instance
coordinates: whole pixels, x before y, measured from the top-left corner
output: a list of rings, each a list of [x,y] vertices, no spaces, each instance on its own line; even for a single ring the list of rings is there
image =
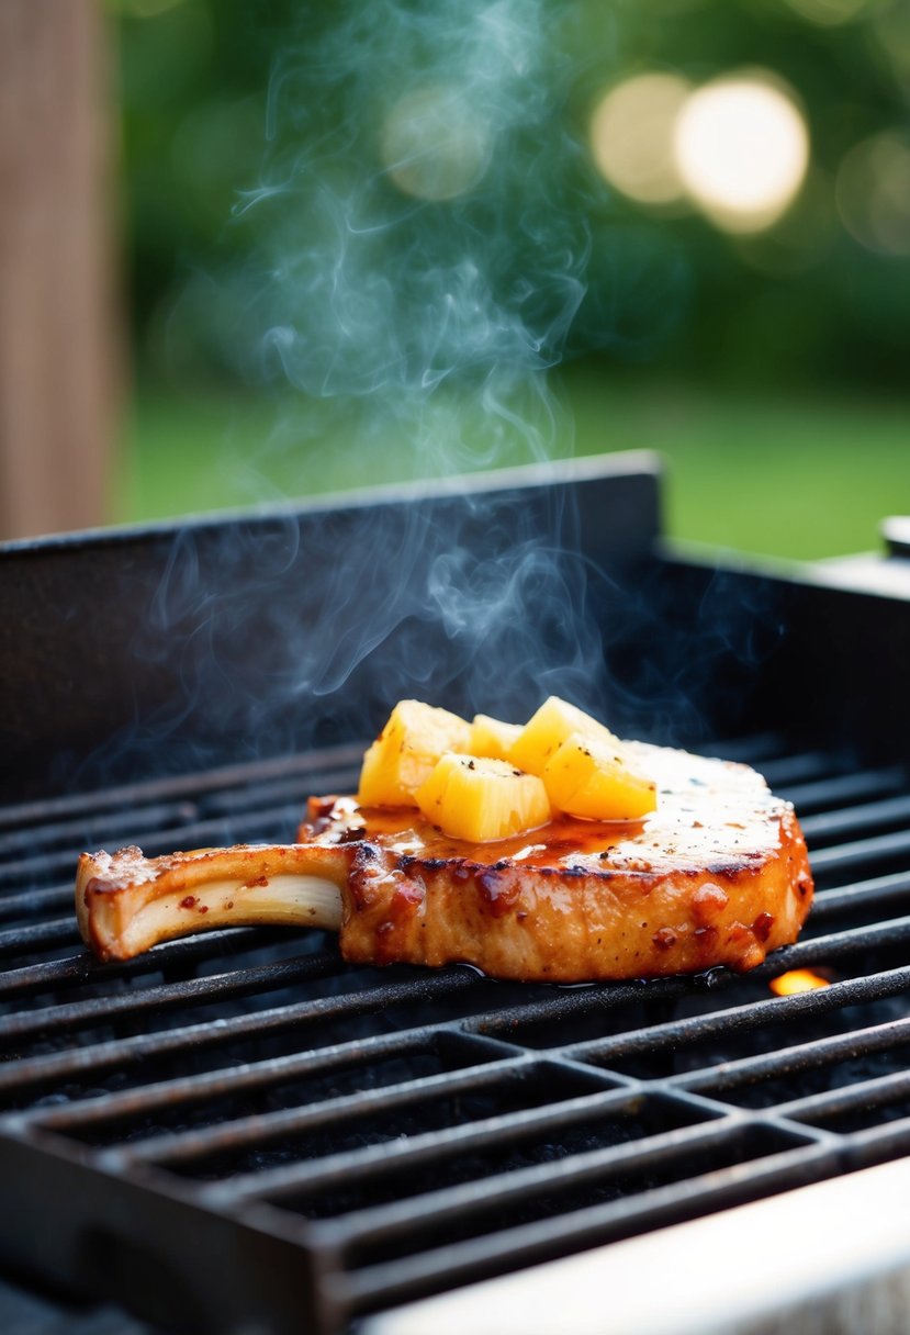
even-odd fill
[[[694,92],[675,128],[679,174],[699,208],[734,232],[770,227],[809,166],[809,131],[793,97],[755,73]]]

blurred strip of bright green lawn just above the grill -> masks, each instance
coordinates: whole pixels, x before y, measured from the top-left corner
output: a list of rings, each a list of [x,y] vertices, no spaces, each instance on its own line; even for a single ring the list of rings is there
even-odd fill
[[[875,549],[881,519],[910,511],[909,402],[604,384],[586,371],[564,376],[563,396],[576,454],[663,455],[666,526],[675,538],[815,559]],[[336,422],[314,438],[304,413],[299,400],[189,396],[140,383],[112,486],[112,521],[294,499],[414,471],[394,433],[359,445],[356,431]],[[571,450],[566,431],[552,453]],[[499,462],[527,458],[516,442]]]

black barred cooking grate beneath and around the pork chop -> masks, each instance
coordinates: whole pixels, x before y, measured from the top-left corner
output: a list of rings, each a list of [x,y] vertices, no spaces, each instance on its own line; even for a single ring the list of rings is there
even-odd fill
[[[718,749],[794,800],[818,882],[743,977],[519,987],[271,929],[81,951],[83,848],[287,838],[359,748],[0,810],[5,1258],[164,1327],[328,1335],[910,1153],[907,773]]]

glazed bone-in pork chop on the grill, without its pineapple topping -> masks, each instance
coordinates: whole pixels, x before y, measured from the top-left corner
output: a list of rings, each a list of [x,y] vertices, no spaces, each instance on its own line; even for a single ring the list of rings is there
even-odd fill
[[[311,925],[340,930],[350,961],[544,983],[750,969],[794,941],[813,880],[790,804],[746,765],[626,746],[659,797],[635,821],[556,814],[466,842],[414,808],[326,797],[296,844],[84,853],[83,937],[129,959],[201,928]]]

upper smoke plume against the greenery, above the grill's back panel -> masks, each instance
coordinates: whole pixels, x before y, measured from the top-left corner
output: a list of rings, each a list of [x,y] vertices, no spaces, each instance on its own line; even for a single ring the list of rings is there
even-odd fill
[[[540,0],[342,4],[276,59],[263,179],[236,208],[256,238],[244,370],[355,415],[368,398],[412,477],[516,439],[544,458],[567,430],[546,371],[591,235],[558,21]]]

